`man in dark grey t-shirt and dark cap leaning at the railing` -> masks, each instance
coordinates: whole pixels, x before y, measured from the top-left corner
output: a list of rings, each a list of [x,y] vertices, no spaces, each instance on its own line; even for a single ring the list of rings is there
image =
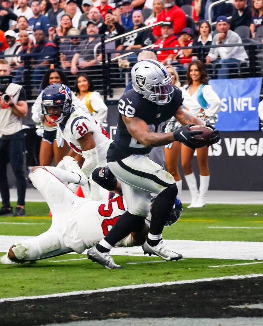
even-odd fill
[[[98,35],[99,28],[95,21],[88,21],[87,23],[87,34]],[[94,59],[94,46],[101,40],[99,37],[89,37],[84,39],[77,48],[77,53],[74,54],[71,64],[71,73],[76,75],[79,69],[86,69],[98,64],[98,61],[102,60],[102,55],[99,54],[97,59]]]

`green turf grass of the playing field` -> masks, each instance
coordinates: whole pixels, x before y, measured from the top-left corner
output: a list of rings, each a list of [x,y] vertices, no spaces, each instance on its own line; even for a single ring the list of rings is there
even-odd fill
[[[27,203],[26,211],[27,217],[0,217],[0,235],[33,236],[48,229],[51,218],[48,217],[49,210],[45,203]],[[2,224],[2,222],[29,224]],[[220,229],[217,227],[234,228]],[[238,229],[240,227],[244,229]],[[261,205],[207,205],[201,209],[185,208],[180,221],[165,228],[164,238],[253,242],[262,241],[262,228],[263,206]],[[3,254],[0,253],[0,255]],[[79,260],[80,258],[82,259]],[[67,261],[57,262],[59,260]],[[257,262],[259,264],[251,265],[210,267],[246,262],[255,263],[255,261],[227,259],[186,258],[178,262],[164,262],[158,257],[114,256],[114,260],[125,268],[123,270],[108,270],[88,261],[86,255],[75,254],[23,265],[0,264],[0,298],[184,279],[246,275],[262,273],[263,267],[260,261]]]

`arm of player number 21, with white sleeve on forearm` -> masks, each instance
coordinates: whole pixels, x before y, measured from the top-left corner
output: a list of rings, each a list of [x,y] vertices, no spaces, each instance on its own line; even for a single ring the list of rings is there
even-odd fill
[[[92,132],[87,132],[81,138],[78,139],[82,150],[82,156],[85,159],[82,165],[82,172],[89,177],[92,171],[98,165],[98,153],[96,149],[96,143],[93,138]]]

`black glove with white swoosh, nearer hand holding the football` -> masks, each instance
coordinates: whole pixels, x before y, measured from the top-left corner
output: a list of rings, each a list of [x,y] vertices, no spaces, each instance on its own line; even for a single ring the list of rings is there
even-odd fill
[[[203,132],[201,130],[190,131],[189,128],[192,126],[193,124],[188,124],[178,130],[175,130],[173,133],[174,140],[179,141],[192,149],[206,146],[207,142],[205,140],[195,138],[195,135],[201,135]]]

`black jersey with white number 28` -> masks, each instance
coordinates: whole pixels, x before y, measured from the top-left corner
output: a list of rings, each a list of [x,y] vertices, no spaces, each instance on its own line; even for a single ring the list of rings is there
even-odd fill
[[[119,119],[114,141],[111,143],[107,161],[114,162],[132,154],[148,154],[152,147],[140,144],[128,132],[122,115],[128,118],[138,117],[144,120],[151,132],[164,132],[166,124],[183,103],[182,92],[173,87],[174,92],[169,103],[157,105],[135,92],[133,89],[124,93],[119,100]]]

